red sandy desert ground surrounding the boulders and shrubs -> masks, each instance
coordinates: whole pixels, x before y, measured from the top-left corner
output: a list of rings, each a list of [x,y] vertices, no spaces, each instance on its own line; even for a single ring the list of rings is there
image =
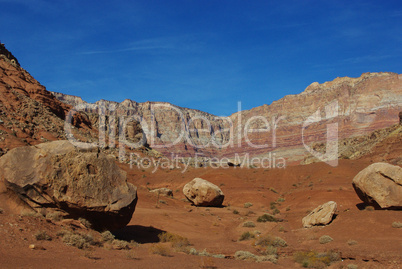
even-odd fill
[[[378,161],[378,160],[376,160]],[[359,268],[402,268],[402,229],[392,228],[395,221],[402,222],[401,211],[359,209],[361,201],[352,187],[353,177],[373,160],[341,160],[338,167],[324,163],[293,166],[286,169],[130,169],[129,181],[138,186],[138,204],[130,224],[120,231],[124,239],[140,243],[129,253],[126,250],[108,250],[93,247],[79,250],[65,245],[56,233],[63,229],[41,218],[0,214],[0,268],[201,268],[203,264],[216,268],[302,268],[293,260],[296,251],[328,251],[341,253],[343,261],[329,268],[346,268],[356,264]],[[225,194],[222,208],[197,208],[184,201],[182,187],[194,177],[201,177],[221,187]],[[158,197],[148,188],[168,187],[174,198]],[[257,217],[270,213],[270,203],[283,197],[278,205],[277,217],[284,222],[259,223]],[[305,229],[301,219],[318,205],[327,201],[338,203],[336,218],[328,226]],[[244,203],[253,206],[244,208]],[[234,214],[237,210],[239,214]],[[245,221],[253,221],[255,228],[245,228]],[[46,230],[52,241],[37,241],[34,234]],[[233,255],[238,250],[257,253],[254,240],[238,241],[245,231],[272,234],[283,238],[288,247],[278,250],[277,264],[238,261]],[[91,231],[85,231],[91,233]],[[167,231],[187,237],[198,251],[227,255],[226,259],[205,258],[172,252],[171,257],[150,254],[148,248],[158,242],[157,235]],[[92,232],[93,233],[93,232]],[[320,244],[318,238],[329,235],[334,240]],[[347,241],[355,240],[350,246]],[[46,250],[31,250],[30,244]],[[166,243],[169,247],[169,244]],[[204,267],[207,268],[207,267]],[[213,268],[213,267],[209,267]]]

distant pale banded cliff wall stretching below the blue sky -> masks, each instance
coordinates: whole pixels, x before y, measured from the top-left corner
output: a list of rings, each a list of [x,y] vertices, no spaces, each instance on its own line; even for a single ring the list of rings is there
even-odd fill
[[[56,97],[77,103],[76,97]],[[109,119],[131,117],[141,122],[148,143],[165,154],[233,158],[236,154],[264,157],[275,153],[288,163],[298,163],[315,153],[312,145],[325,144],[328,134],[330,140],[341,140],[397,123],[402,110],[402,75],[366,73],[359,78],[315,82],[298,95],[228,118],[168,103],[101,100],[96,105],[95,113],[102,110]]]

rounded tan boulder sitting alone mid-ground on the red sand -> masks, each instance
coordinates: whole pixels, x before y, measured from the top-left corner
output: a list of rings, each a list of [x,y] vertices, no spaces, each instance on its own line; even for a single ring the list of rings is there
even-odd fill
[[[194,178],[184,185],[183,193],[196,206],[221,206],[225,198],[218,186],[202,178]]]

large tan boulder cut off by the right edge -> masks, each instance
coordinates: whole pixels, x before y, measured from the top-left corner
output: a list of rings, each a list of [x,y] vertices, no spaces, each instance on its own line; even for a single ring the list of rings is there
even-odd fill
[[[402,168],[388,163],[373,163],[353,178],[359,198],[381,208],[402,207]]]

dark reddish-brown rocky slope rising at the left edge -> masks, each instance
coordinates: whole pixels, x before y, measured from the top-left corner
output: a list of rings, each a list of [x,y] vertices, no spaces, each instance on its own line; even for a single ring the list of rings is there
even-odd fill
[[[18,146],[66,139],[64,120],[70,110],[0,46],[0,155]],[[90,123],[83,115],[72,123],[89,136]]]

